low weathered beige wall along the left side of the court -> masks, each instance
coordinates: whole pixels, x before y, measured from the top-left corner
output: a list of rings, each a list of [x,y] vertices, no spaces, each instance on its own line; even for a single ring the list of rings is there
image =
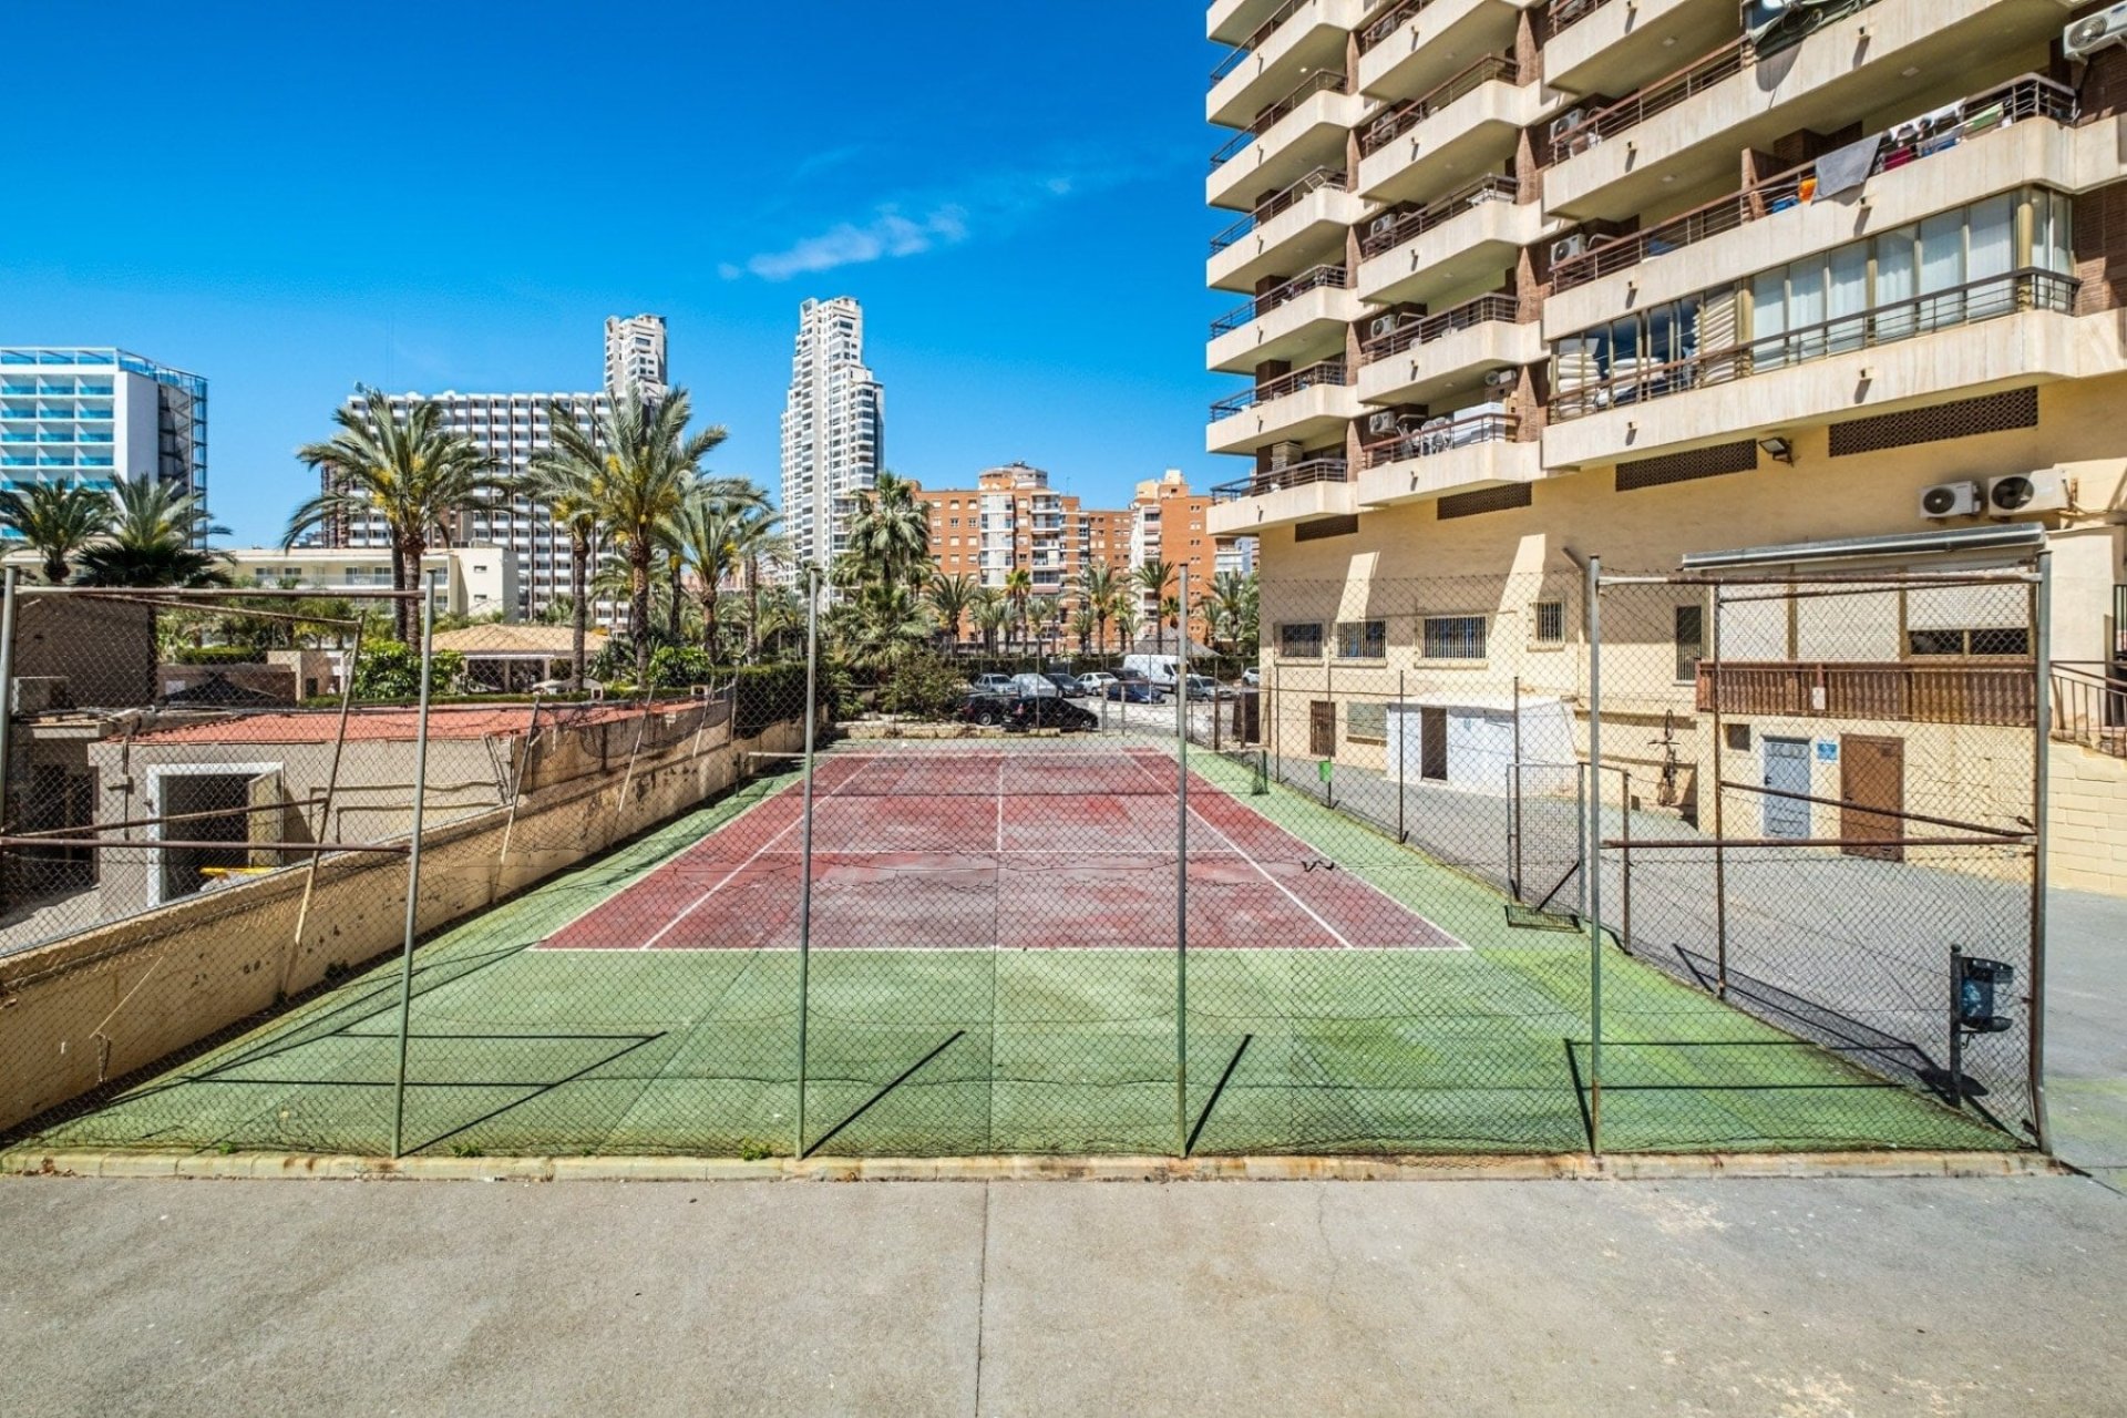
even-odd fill
[[[655,714],[653,719],[672,719]],[[423,838],[421,931],[442,929],[534,882],[566,872],[730,789],[749,753],[793,753],[802,725],[753,740],[670,731],[604,772],[557,753],[547,787],[506,808]],[[538,776],[534,753],[532,774]],[[187,897],[145,916],[0,959],[0,1129],[270,1010],[400,944],[406,912],[402,857],[332,857],[306,867]]]

